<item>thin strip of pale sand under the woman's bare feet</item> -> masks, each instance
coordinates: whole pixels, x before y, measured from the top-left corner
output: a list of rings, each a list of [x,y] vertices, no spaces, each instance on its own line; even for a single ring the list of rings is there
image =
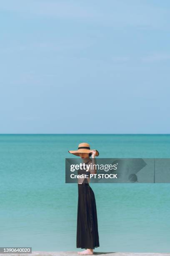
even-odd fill
[[[37,256],[77,256],[75,251],[32,251]],[[0,253],[0,256],[28,256],[28,253]],[[95,252],[94,255],[100,256],[170,256],[170,253],[130,253],[130,252]]]

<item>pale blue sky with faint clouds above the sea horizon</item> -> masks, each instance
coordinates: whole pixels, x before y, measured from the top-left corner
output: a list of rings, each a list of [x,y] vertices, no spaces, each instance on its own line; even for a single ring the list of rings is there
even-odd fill
[[[0,31],[0,133],[170,133],[169,0],[2,0]]]

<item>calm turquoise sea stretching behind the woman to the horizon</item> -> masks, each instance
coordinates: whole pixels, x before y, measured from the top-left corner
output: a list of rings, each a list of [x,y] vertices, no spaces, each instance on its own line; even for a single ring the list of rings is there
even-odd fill
[[[0,135],[0,247],[78,251],[77,184],[65,158],[80,142],[101,158],[169,158],[170,135]],[[90,184],[100,247],[170,252],[170,184]]]

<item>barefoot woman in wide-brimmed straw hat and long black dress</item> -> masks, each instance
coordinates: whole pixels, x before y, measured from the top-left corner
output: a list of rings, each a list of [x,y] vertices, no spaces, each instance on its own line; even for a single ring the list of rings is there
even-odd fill
[[[78,179],[77,248],[86,249],[78,254],[93,254],[93,249],[99,247],[99,235],[95,195],[89,182],[90,173],[96,173],[92,165],[95,164],[95,156],[98,156],[99,152],[90,150],[88,143],[80,143],[78,150],[68,152],[80,156],[85,166],[88,166],[88,169],[78,170],[78,174],[86,174],[87,178]],[[92,160],[90,156],[92,156]]]

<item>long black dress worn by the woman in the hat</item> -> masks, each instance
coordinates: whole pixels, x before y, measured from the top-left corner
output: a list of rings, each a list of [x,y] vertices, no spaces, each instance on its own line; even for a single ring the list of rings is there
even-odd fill
[[[90,172],[79,169],[78,174],[82,173]],[[96,247],[99,247],[99,235],[95,195],[87,179],[84,179],[82,184],[78,184],[77,248],[95,249]]]

